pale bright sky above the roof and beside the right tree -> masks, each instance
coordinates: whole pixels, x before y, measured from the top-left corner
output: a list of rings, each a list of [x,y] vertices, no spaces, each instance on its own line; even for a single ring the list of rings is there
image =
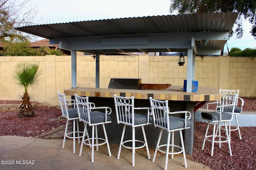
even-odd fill
[[[38,24],[66,23],[74,21],[104,20],[115,18],[169,15],[170,0],[30,0],[28,6],[36,6]],[[244,35],[228,40],[228,49],[256,48],[256,39],[250,34],[251,25],[244,21]],[[40,40],[42,38],[38,38]],[[227,45],[224,47],[227,51]]]

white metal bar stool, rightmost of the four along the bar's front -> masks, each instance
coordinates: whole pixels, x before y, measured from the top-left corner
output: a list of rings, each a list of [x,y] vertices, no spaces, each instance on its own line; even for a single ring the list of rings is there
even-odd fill
[[[191,113],[189,111],[170,112],[168,107],[168,100],[165,100],[165,101],[155,100],[155,99],[152,99],[152,97],[150,97],[149,100],[150,100],[151,111],[153,114],[154,126],[161,128],[152,162],[155,161],[156,153],[158,150],[162,153],[166,153],[164,169],[167,170],[169,154],[171,154],[173,158],[174,154],[183,153],[184,166],[185,168],[187,168],[188,166],[186,161],[182,130],[190,129],[190,126],[192,125],[192,122],[189,120],[191,118]],[[176,114],[184,114],[185,117],[184,118],[175,117],[174,115]],[[167,143],[164,145],[159,145],[163,130],[166,130],[168,132]],[[180,132],[181,147],[178,145],[174,145],[175,131]],[[171,134],[172,134],[172,144],[170,144]],[[166,151],[162,150],[161,149],[162,147],[166,147]],[[172,149],[171,152],[170,152],[170,147]],[[178,149],[177,152],[174,151],[174,147]]]

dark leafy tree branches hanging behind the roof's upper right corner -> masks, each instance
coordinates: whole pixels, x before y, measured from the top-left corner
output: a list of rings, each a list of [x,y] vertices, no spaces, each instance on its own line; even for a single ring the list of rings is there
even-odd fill
[[[238,12],[235,22],[237,38],[243,35],[242,17],[252,23],[250,33],[256,39],[256,0],[172,0],[170,13],[178,11],[179,14],[195,14],[210,12]]]

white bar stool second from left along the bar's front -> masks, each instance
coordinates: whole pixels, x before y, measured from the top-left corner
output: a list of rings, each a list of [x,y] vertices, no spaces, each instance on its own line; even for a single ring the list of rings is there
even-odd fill
[[[80,147],[79,156],[82,155],[82,149],[83,145],[88,145],[92,148],[92,160],[91,162],[94,162],[94,147],[96,146],[96,150],[98,149],[98,146],[100,145],[107,145],[108,148],[108,154],[111,156],[110,147],[108,143],[108,136],[106,133],[105,124],[111,123],[112,119],[110,117],[110,113],[112,112],[112,109],[107,106],[103,107],[95,107],[95,104],[92,102],[89,102],[88,97],[81,97],[75,94],[76,99],[76,107],[78,111],[78,117],[80,121],[84,122],[84,133],[82,137],[82,143]],[[104,112],[102,112],[103,110]],[[87,130],[87,125],[92,126],[92,137],[89,137],[89,133]],[[97,125],[102,125],[105,139],[98,137],[98,127]],[[87,139],[84,139],[87,134]],[[96,143],[94,143],[96,141]],[[100,143],[100,141],[102,141]]]

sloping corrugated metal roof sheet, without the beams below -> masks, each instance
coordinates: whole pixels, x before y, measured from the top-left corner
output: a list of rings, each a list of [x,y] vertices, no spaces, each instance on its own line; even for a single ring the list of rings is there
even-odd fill
[[[46,39],[143,33],[226,32],[232,29],[236,18],[237,13],[205,13],[54,23],[16,29]]]

